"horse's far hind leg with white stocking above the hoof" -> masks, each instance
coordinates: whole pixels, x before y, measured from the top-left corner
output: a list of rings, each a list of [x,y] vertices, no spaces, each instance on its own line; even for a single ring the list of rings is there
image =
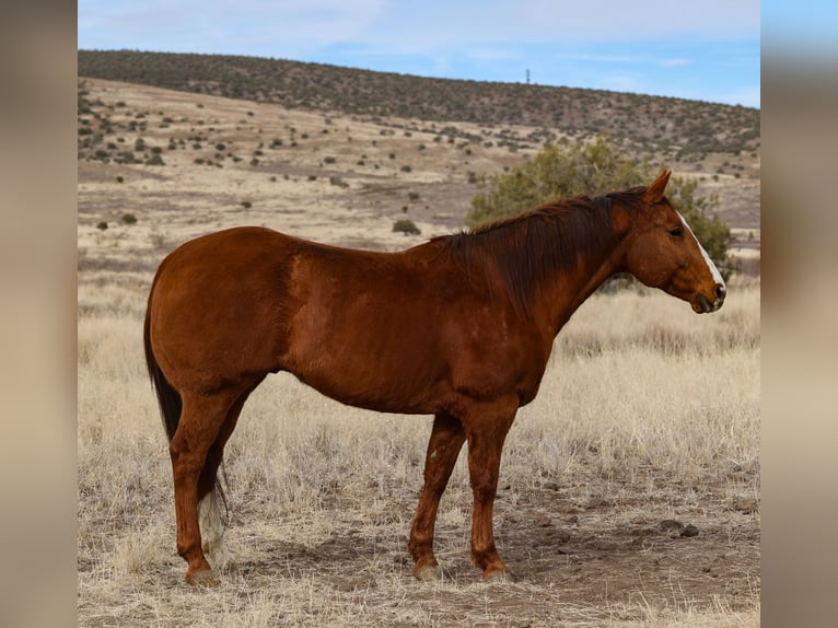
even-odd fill
[[[223,461],[224,445],[235,429],[238,415],[251,391],[244,393],[228,411],[216,441],[207,453],[200,476],[198,477],[198,526],[201,535],[201,549],[211,560],[216,570],[223,570],[230,562],[230,554],[224,544],[224,524],[221,521],[219,500],[224,500],[217,474]]]

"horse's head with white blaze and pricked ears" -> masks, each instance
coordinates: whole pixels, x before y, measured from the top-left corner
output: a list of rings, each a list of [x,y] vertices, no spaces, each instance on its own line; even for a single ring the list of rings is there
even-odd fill
[[[647,286],[688,301],[695,312],[715,312],[726,294],[724,279],[664,196],[670,174],[662,172],[642,193],[639,210],[616,206],[615,225],[626,232],[626,267]]]

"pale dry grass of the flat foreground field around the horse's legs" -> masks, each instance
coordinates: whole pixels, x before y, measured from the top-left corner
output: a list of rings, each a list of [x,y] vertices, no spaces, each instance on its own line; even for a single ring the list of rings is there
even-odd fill
[[[142,359],[146,289],[147,278],[80,283],[81,625],[758,625],[758,581],[747,600],[711,605],[675,590],[648,600],[641,583],[612,606],[565,603],[561,583],[482,585],[468,566],[465,455],[438,524],[450,579],[414,582],[406,535],[430,419],[348,408],[287,374],[252,395],[226,449],[233,565],[217,590],[184,585]],[[690,499],[700,510],[702,496],[758,498],[759,396],[758,283],[731,286],[710,316],[645,290],[595,295],[560,334],[508,438],[501,554],[504,530],[531,525],[515,517],[547,488],[559,487],[556,508],[607,498],[620,521],[651,503],[666,514]]]

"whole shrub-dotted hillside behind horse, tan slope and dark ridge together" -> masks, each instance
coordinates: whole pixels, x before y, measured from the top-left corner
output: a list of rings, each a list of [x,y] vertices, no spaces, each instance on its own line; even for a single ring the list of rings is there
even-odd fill
[[[627,154],[717,194],[743,270],[758,272],[755,109],[211,56],[80,51],[79,72],[82,266],[118,265],[127,248],[155,259],[242,223],[398,248],[461,228],[482,175],[546,142],[607,132]],[[100,75],[123,80],[91,78]],[[371,108],[364,91],[398,97]],[[566,113],[539,117],[547,111]],[[403,219],[421,234],[394,233]]]

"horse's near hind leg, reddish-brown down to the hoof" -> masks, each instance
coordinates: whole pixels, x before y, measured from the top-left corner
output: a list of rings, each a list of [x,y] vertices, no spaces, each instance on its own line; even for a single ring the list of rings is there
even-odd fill
[[[168,452],[174,478],[177,554],[189,565],[189,583],[211,583],[214,574],[201,549],[198,524],[198,478],[235,396],[183,395],[183,411]]]

